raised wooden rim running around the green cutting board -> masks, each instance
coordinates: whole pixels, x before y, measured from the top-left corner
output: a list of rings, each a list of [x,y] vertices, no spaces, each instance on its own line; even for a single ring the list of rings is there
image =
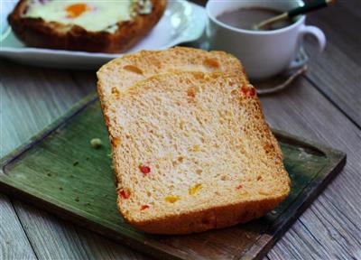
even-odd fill
[[[16,187],[11,186],[9,183],[7,183],[5,180],[2,180],[2,174],[5,174],[5,166],[8,163],[12,163],[16,158],[21,156],[23,153],[26,153],[29,149],[32,148],[32,146],[41,143],[43,139],[45,139],[48,135],[51,135],[53,131],[58,129],[61,125],[66,125],[69,120],[73,116],[78,115],[81,111],[83,111],[86,107],[91,105],[97,100],[97,92],[94,91],[90,94],[88,94],[87,97],[82,98],[77,102],[73,107],[69,109],[67,113],[65,113],[63,116],[60,116],[57,120],[55,120],[50,125],[46,126],[41,132],[37,133],[36,135],[33,135],[27,142],[19,146],[18,148],[14,149],[13,152],[6,154],[3,158],[0,159],[0,188],[1,190],[5,191],[5,193],[14,195],[14,197],[17,197],[21,200],[25,200],[27,202],[32,203],[33,205],[44,209],[48,212],[51,212],[51,209],[53,211],[56,210],[57,216],[60,218],[70,220],[71,222],[74,222],[75,224],[88,228],[90,230],[93,230],[97,232],[100,235],[103,235],[105,237],[114,238],[117,241],[120,241],[121,243],[124,243],[127,246],[131,246],[135,250],[138,250],[140,252],[143,252],[145,254],[153,255],[155,257],[161,258],[161,259],[187,259],[187,255],[173,255],[174,252],[164,252],[164,247],[162,247],[162,250],[157,250],[156,245],[144,245],[143,243],[136,241],[136,240],[129,240],[129,237],[123,237],[119,236],[115,231],[113,231],[110,228],[104,228],[97,224],[96,222],[93,222],[91,220],[88,220],[88,218],[82,218],[78,215],[72,214],[66,209],[62,209],[60,207],[57,207],[56,205],[52,204],[51,202],[48,202],[46,200],[42,200],[41,198],[38,198],[36,196],[33,196],[30,193],[27,193],[23,190],[18,190]],[[251,246],[249,250],[245,252],[244,255],[235,255],[236,257],[241,257],[240,259],[261,259],[266,255],[266,253],[269,251],[269,249],[275,244],[275,242],[282,237],[282,235],[287,231],[288,228],[292,226],[294,221],[301,216],[301,213],[307,209],[308,206],[310,206],[311,202],[317,198],[319,193],[324,190],[329,183],[336,175],[337,173],[343,168],[343,166],[346,164],[346,153],[343,153],[341,151],[338,151],[334,148],[331,148],[324,144],[318,144],[316,142],[307,140],[305,138],[302,138],[297,135],[291,135],[287,132],[284,132],[282,130],[278,129],[272,129],[273,134],[276,137],[282,138],[284,140],[292,140],[292,142],[296,141],[299,144],[310,147],[312,149],[316,149],[320,153],[326,154],[330,158],[330,164],[327,165],[324,169],[322,169],[316,177],[319,177],[320,175],[324,175],[325,178],[322,179],[320,183],[315,183],[314,181],[311,181],[308,186],[305,187],[305,189],[300,193],[299,196],[304,195],[306,192],[305,190],[310,189],[307,192],[307,197],[305,200],[300,200],[300,203],[297,205],[292,204],[292,208],[295,210],[294,215],[291,216],[291,218],[284,218],[282,221],[282,229],[274,229],[271,230],[271,234],[264,234],[257,239],[255,244]],[[327,174],[329,172],[329,174]],[[317,186],[316,184],[319,184]],[[311,187],[310,187],[311,186]],[[32,200],[30,200],[32,199]],[[297,208],[298,207],[298,208]],[[59,213],[59,215],[58,215]],[[282,215],[280,216],[282,218]],[[88,223],[87,223],[88,221]],[[103,230],[101,230],[103,228]],[[108,230],[104,230],[108,229]],[[111,236],[109,236],[111,235]],[[136,245],[132,245],[132,242],[136,241]],[[147,250],[144,250],[144,246],[147,247]]]

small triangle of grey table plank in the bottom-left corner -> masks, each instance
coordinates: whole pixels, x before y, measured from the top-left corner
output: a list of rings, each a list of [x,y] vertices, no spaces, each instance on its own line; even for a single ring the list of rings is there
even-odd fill
[[[0,194],[0,259],[36,259],[13,205]]]

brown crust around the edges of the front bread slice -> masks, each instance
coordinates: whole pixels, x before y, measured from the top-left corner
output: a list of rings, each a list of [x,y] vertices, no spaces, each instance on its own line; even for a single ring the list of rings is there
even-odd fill
[[[173,72],[175,75],[179,72]],[[202,74],[202,72],[191,72],[193,74]],[[224,76],[229,77],[230,74],[226,73],[219,73],[214,72],[208,75],[213,75],[213,77]],[[158,76],[153,76],[148,79],[144,79],[143,81],[149,81],[152,79],[157,79]],[[136,88],[137,85],[141,85],[143,81],[137,82],[134,86],[128,88]],[[254,88],[254,87],[250,87]],[[240,96],[241,100],[242,95]],[[288,177],[287,172],[285,172],[283,165],[282,165],[282,153],[280,152],[281,149],[274,138],[269,125],[264,121],[264,113],[261,109],[261,103],[258,98],[253,98],[253,101],[249,101],[248,98],[244,99],[245,103],[248,105],[245,106],[253,106],[253,111],[257,111],[260,118],[259,121],[252,125],[250,128],[251,131],[259,131],[264,133],[264,140],[265,145],[267,145],[267,149],[269,150],[268,155],[270,156],[269,160],[275,160],[278,165],[279,173],[285,174],[287,176],[287,181],[284,183],[284,190],[282,193],[276,193],[273,195],[266,195],[263,199],[259,200],[243,200],[243,201],[236,201],[234,203],[229,203],[221,206],[215,206],[213,208],[206,209],[190,209],[188,211],[183,211],[181,213],[172,213],[171,215],[162,216],[162,218],[152,218],[152,219],[134,219],[129,212],[125,209],[122,209],[121,200],[123,200],[120,196],[117,199],[117,207],[119,211],[122,213],[125,220],[137,228],[142,230],[146,233],[153,233],[153,234],[165,234],[165,235],[184,235],[190,233],[198,233],[207,231],[209,229],[214,228],[227,228],[234,226],[239,223],[245,223],[255,218],[261,218],[267,212],[275,209],[281,202],[284,200],[291,189],[291,181]],[[241,101],[243,102],[243,101]],[[251,103],[251,104],[250,104]],[[107,116],[106,118],[106,125],[109,129],[109,119]],[[110,133],[110,132],[109,132]],[[110,139],[113,140],[113,136],[110,134]],[[115,144],[113,144],[113,151],[115,151]],[[115,156],[115,154],[114,154]],[[116,157],[113,157],[113,161],[116,162]],[[114,163],[114,167],[116,170],[116,185],[121,183],[120,175],[124,174],[121,173],[121,169],[119,168],[119,163]]]

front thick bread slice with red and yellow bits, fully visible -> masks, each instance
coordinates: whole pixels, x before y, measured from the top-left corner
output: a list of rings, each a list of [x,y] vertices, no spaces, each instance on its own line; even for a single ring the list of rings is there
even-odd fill
[[[174,72],[106,103],[117,205],[135,228],[187,234],[263,216],[290,179],[242,74]]]

